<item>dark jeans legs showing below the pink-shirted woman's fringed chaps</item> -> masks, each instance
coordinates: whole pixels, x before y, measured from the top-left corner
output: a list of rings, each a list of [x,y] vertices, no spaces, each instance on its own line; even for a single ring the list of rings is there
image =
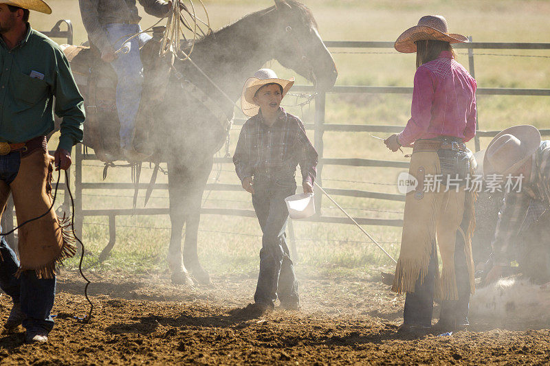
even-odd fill
[[[418,278],[415,284],[415,292],[406,294],[403,312],[404,323],[419,324],[426,327],[432,325],[436,272],[437,251],[434,245],[426,277],[424,277],[422,284],[420,284],[420,278]],[[459,299],[441,302],[439,320],[445,323],[465,325],[468,324],[468,311],[470,310],[470,277],[464,253],[464,240],[459,232],[456,233],[454,245],[454,272],[456,273],[456,290]]]

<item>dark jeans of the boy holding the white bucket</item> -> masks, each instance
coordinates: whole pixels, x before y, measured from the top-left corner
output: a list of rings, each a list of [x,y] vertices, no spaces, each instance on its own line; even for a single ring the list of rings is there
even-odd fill
[[[296,193],[294,176],[254,176],[252,205],[262,229],[260,274],[254,301],[268,306],[299,303],[298,281],[286,242],[288,210],[285,198]]]

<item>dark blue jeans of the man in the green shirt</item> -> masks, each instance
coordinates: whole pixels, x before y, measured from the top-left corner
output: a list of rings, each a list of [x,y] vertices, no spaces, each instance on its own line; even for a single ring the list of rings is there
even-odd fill
[[[19,152],[0,155],[0,205],[10,194],[9,184],[17,176],[21,156]],[[1,232],[1,228],[0,228]],[[34,271],[23,271],[19,278],[15,273],[19,268],[17,255],[8,247],[4,238],[0,238],[0,288],[14,303],[21,303],[21,310],[27,315],[23,326],[27,330],[52,330],[54,321],[50,311],[54,306],[56,280],[39,279]]]

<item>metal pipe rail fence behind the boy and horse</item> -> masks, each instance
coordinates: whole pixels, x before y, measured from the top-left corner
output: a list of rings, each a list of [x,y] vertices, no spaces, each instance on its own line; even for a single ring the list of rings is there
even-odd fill
[[[63,23],[67,24],[67,31],[61,31],[60,27]],[[73,31],[70,21],[59,21],[54,28],[47,35],[52,37],[66,38],[67,43],[72,43]],[[325,45],[331,49],[341,48],[389,48],[393,49],[393,42],[371,42],[371,41],[327,41]],[[474,50],[475,49],[550,49],[550,43],[483,43],[472,42],[470,37],[470,43],[459,43],[454,45],[456,49],[468,50],[468,62],[469,69],[472,76],[475,76],[474,69]],[[397,52],[395,52],[397,54]],[[296,85],[293,88],[298,93],[313,93],[314,88],[306,85]],[[325,165],[338,165],[338,166],[350,166],[350,167],[384,167],[384,168],[408,168],[407,161],[385,161],[385,160],[373,160],[373,159],[344,159],[344,158],[330,158],[323,157],[323,135],[325,132],[353,132],[353,133],[398,133],[401,131],[402,126],[391,125],[355,125],[355,124],[331,124],[325,123],[325,105],[326,105],[326,93],[373,93],[373,94],[412,94],[411,87],[374,87],[374,86],[355,86],[355,85],[337,85],[327,92],[319,93],[315,98],[315,119],[314,123],[307,123],[305,127],[308,130],[314,130],[314,146],[319,153],[319,165],[318,165],[318,182],[322,184],[322,169]],[[479,88],[477,89],[478,95],[538,95],[538,96],[550,96],[550,89],[513,89],[513,88]],[[245,119],[236,119],[235,128],[239,128]],[[479,126],[479,124],[478,124]],[[480,137],[493,137],[499,131],[492,130],[478,130],[476,133],[476,150],[479,148]],[[540,130],[542,135],[550,135],[550,129]],[[169,213],[168,208],[150,208],[150,209],[83,209],[83,191],[84,190],[134,190],[135,185],[133,183],[87,183],[83,181],[83,162],[97,160],[95,155],[84,155],[83,147],[81,145],[76,146],[75,156],[75,181],[76,187],[76,229],[79,234],[82,233],[83,219],[85,216],[107,216],[109,218],[109,244],[104,249],[105,253],[111,250],[115,242],[116,234],[116,216],[130,216],[130,215],[167,215]],[[215,158],[214,163],[230,164],[232,159],[230,158]],[[98,165],[99,166],[99,165]],[[69,182],[70,184],[70,182]],[[62,185],[65,187],[65,185]],[[140,189],[148,187],[147,184],[138,185]],[[157,183],[155,190],[167,190],[168,185],[164,183]],[[207,185],[207,190],[217,191],[240,191],[241,185],[238,184],[222,184],[212,183]],[[371,192],[366,190],[347,190],[339,188],[326,188],[329,194],[337,196],[349,196],[358,198],[373,198],[389,201],[403,202],[405,196],[402,194],[388,194],[382,192]],[[65,194],[65,200],[67,194]],[[316,205],[321,207],[321,195],[316,195]],[[65,201],[65,205],[67,202]],[[254,211],[250,209],[227,209],[227,208],[203,208],[202,214],[217,214],[217,215],[231,215],[231,216],[243,216],[254,217]],[[349,219],[344,217],[322,216],[320,214],[308,219],[314,222],[327,222],[327,223],[351,223]],[[355,218],[361,225],[388,225],[388,226],[401,226],[402,220],[400,219],[387,219],[387,218]],[[3,220],[4,222],[4,220]],[[8,222],[9,224],[9,222]]]

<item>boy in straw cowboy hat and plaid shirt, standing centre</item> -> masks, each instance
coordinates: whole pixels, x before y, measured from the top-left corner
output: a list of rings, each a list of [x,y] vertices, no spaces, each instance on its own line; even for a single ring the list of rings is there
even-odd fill
[[[255,305],[260,310],[281,306],[298,309],[298,282],[285,240],[288,211],[285,198],[296,193],[296,165],[300,164],[304,192],[313,192],[318,155],[300,119],[281,108],[281,100],[294,84],[261,69],[248,78],[241,95],[245,115],[233,162],[263,232],[260,274]]]

